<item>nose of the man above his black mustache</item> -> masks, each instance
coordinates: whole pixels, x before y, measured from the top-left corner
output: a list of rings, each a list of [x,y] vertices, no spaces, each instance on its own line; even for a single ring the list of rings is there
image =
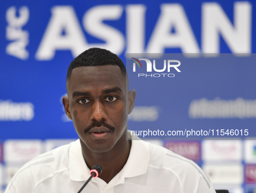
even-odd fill
[[[91,115],[90,119],[93,121],[101,121],[107,119],[107,113],[105,112],[104,104],[99,100],[95,100],[93,105],[91,106]]]

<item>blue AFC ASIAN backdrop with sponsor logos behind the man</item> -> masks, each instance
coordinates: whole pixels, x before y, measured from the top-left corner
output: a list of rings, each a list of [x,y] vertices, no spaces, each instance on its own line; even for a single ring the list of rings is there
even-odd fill
[[[256,55],[252,54],[256,53],[255,7],[253,0],[2,0],[0,187],[4,190],[17,170],[10,166],[13,161],[19,162],[20,167],[29,157],[27,152],[32,152],[29,154],[32,158],[70,142],[45,139],[78,138],[72,122],[65,116],[61,98],[66,94],[70,62],[91,47],[113,51],[126,64],[130,89],[137,92],[135,108],[128,117],[128,129],[159,129],[165,134],[191,129],[210,133],[197,135],[196,139],[212,137],[213,131],[216,137],[217,130],[220,138],[227,138],[233,129],[233,138],[255,137]],[[127,58],[126,53],[130,53]],[[177,68],[181,72],[172,67],[170,72],[167,68],[157,72],[153,67],[147,71],[146,61],[140,60],[137,53],[159,53],[143,55],[152,66],[156,60],[158,70],[163,68],[164,60],[167,63],[178,60],[181,65]],[[136,64],[136,72],[133,72],[132,58],[142,64],[142,68]],[[154,77],[161,73],[175,76]],[[138,74],[145,75],[138,77]],[[221,136],[221,129],[228,130],[229,135]],[[246,129],[249,135],[245,136]],[[170,136],[146,138],[163,140]],[[18,141],[9,139],[39,140],[17,145]],[[46,144],[45,150],[42,142]],[[255,189],[256,143],[253,141],[160,143],[200,166],[207,166],[207,175],[217,175],[222,167],[204,161],[217,161],[217,164],[234,161],[238,166],[220,172],[219,181],[215,183],[228,186],[230,175],[237,174],[232,176],[237,181],[233,180],[230,186],[238,189],[230,192],[252,193]],[[233,152],[232,156],[225,157],[229,152]],[[249,172],[244,168],[249,168]]]

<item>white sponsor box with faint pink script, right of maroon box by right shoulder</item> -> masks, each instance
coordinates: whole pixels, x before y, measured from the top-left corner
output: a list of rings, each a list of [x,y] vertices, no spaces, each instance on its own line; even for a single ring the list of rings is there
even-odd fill
[[[202,159],[204,161],[240,161],[242,160],[242,142],[202,141]]]

